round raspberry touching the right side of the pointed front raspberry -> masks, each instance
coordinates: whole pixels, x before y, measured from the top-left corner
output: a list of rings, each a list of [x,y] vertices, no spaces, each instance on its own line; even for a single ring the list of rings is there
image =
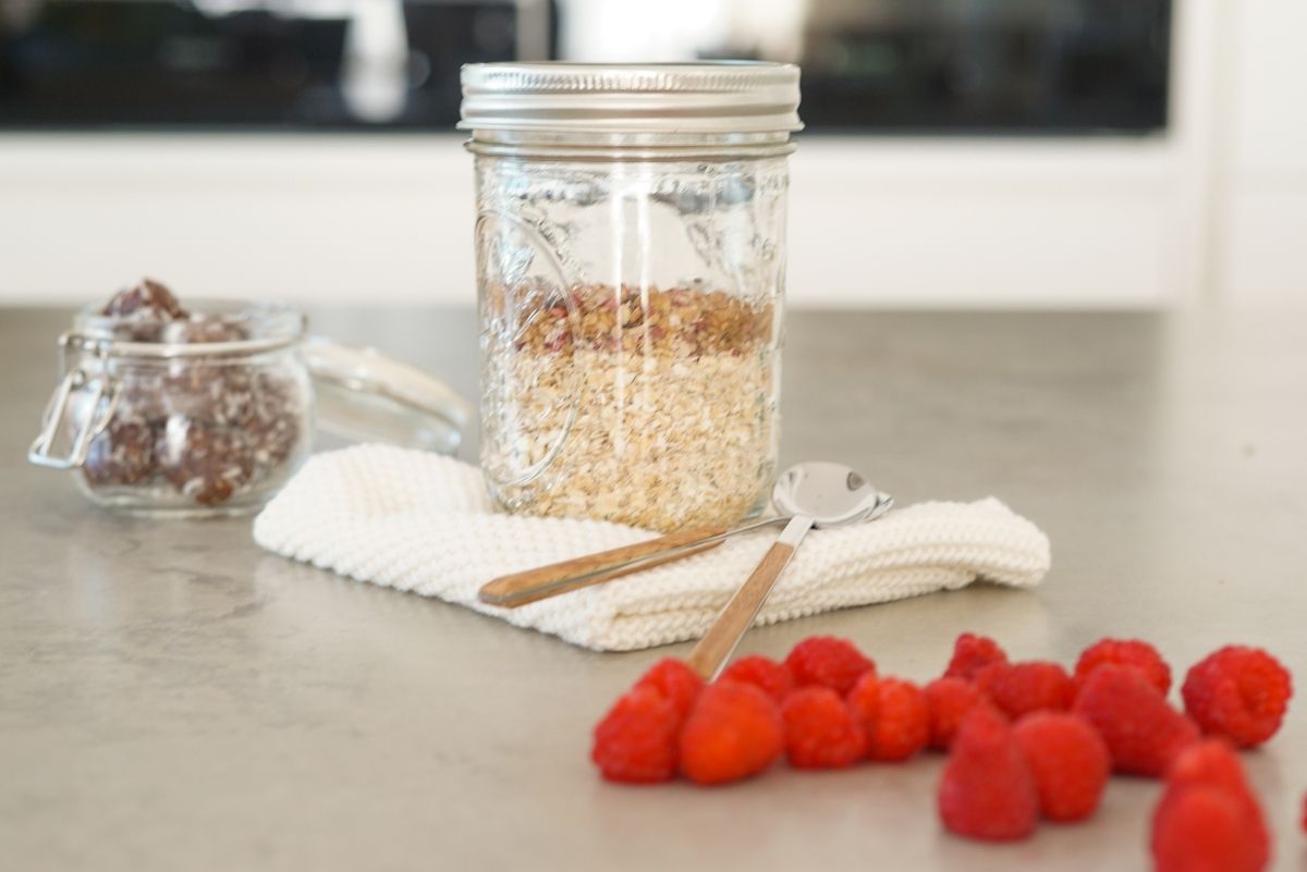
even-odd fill
[[[1098,731],[1064,711],[1035,711],[1013,735],[1026,755],[1039,794],[1039,809],[1051,821],[1078,821],[1098,808],[1112,757]]]

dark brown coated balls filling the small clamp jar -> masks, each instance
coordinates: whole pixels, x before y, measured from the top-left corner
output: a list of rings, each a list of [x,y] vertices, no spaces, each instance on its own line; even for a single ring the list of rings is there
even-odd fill
[[[150,279],[120,291],[99,315],[108,337],[131,342],[203,346],[251,338],[243,322],[248,313],[188,312]],[[216,347],[213,354],[119,356],[105,366],[122,388],[82,466],[93,493],[197,506],[255,499],[289,475],[307,449],[308,388],[293,351],[248,355]],[[82,426],[76,418],[73,426]]]

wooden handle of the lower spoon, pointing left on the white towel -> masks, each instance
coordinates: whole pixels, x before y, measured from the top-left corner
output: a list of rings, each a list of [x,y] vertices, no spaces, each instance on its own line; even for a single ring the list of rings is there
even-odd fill
[[[524,606],[715,548],[721,544],[721,539],[698,548],[694,546],[703,539],[721,537],[727,531],[724,526],[693,527],[612,551],[501,576],[481,587],[478,598],[491,606],[508,608]]]

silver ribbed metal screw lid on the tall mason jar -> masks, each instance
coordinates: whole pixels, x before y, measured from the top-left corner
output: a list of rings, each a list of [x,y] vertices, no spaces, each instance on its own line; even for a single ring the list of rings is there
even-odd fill
[[[799,131],[799,67],[761,61],[468,64],[459,129]]]

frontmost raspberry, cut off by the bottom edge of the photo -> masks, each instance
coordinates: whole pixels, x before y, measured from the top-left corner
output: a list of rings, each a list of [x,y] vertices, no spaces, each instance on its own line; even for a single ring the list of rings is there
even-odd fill
[[[1238,799],[1218,787],[1168,791],[1153,815],[1157,872],[1259,872],[1259,850]]]

